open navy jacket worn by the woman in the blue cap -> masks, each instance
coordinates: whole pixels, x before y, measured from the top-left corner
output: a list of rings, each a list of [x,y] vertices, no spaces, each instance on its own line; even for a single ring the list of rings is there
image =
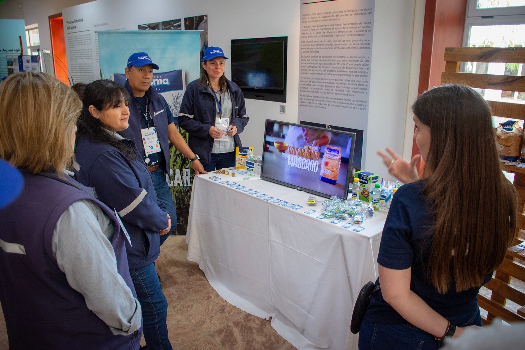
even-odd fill
[[[235,145],[242,146],[239,134],[248,124],[243,92],[233,81],[226,79],[228,91],[232,98],[232,119],[230,125],[235,125],[237,134],[234,136]],[[201,162],[208,164],[211,161],[213,137],[209,135],[209,128],[215,126],[215,98],[213,92],[204,89],[198,79],[188,84],[181,109],[178,113],[178,125],[190,134],[190,149],[201,157]]]

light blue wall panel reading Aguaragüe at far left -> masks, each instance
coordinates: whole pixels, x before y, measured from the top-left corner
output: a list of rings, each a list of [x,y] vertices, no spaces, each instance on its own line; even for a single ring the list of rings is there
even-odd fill
[[[27,52],[24,20],[0,19],[0,33],[2,33],[2,35],[0,35],[0,78],[3,78],[8,75],[7,56],[18,56],[23,54],[23,52],[20,52],[19,37],[22,37],[22,48],[24,52]]]

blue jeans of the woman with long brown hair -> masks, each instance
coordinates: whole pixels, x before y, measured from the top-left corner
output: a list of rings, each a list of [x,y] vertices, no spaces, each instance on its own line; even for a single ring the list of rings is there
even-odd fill
[[[449,317],[458,327],[482,326],[479,308],[474,313]],[[411,324],[378,324],[363,321],[359,330],[359,350],[434,350],[440,342],[430,333]]]

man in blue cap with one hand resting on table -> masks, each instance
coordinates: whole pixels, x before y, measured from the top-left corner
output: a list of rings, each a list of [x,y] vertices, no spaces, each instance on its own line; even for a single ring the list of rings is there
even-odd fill
[[[142,140],[138,147],[153,178],[157,196],[167,207],[168,213],[175,228],[177,214],[164,174],[170,174],[170,147],[169,141],[185,157],[190,158],[195,175],[204,173],[199,156],[192,152],[190,147],[175,126],[175,119],[170,106],[164,97],[151,88],[153,69],[159,69],[145,52],[135,52],[128,59],[125,75],[128,80],[124,87],[131,96],[129,105],[129,128],[126,130],[129,139]],[[153,144],[153,148],[148,145]],[[161,244],[169,235],[161,236]]]

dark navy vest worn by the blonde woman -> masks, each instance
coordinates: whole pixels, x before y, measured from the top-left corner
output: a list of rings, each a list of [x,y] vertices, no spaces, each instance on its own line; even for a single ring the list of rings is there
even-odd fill
[[[0,209],[0,239],[18,247],[0,249],[0,301],[9,348],[138,349],[142,331],[135,334],[136,338],[113,335],[108,325],[89,310],[84,296],[71,288],[68,276],[53,256],[58,220],[77,200],[89,200],[115,224],[110,240],[116,258],[113,263],[137,298],[124,248],[126,239],[113,211],[90,196],[91,188],[69,176],[60,178],[53,169],[36,175],[23,172],[23,176],[22,193]]]

